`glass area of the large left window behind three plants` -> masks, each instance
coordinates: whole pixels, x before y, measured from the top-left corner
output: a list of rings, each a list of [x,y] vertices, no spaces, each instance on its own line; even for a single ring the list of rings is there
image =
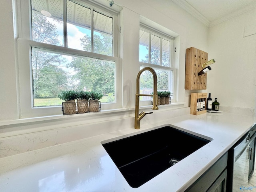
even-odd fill
[[[100,91],[104,94],[102,103],[116,102],[117,59],[111,58],[114,55],[113,18],[70,0],[47,1],[51,6],[45,2],[31,0],[32,40],[82,50],[84,57],[79,57],[81,53],[75,50],[68,50],[67,55],[56,47],[52,50],[44,44],[40,48],[31,46],[32,106],[60,105],[58,93],[68,89]],[[64,11],[63,4],[66,4]],[[51,12],[52,16],[42,15],[40,9]],[[63,22],[62,16],[67,22]]]

